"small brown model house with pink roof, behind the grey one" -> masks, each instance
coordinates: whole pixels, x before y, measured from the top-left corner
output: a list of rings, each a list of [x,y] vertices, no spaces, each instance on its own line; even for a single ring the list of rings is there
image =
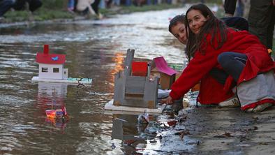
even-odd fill
[[[161,89],[170,89],[177,71],[170,68],[163,57],[156,57],[151,63],[151,75],[160,77]]]

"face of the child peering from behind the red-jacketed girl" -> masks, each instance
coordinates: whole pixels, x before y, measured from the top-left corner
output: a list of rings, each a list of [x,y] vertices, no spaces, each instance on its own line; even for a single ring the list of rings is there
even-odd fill
[[[183,43],[186,45],[187,38],[186,38],[186,29],[185,25],[182,24],[181,22],[178,22],[174,27],[171,28],[171,32],[174,35],[174,37],[179,40],[179,42]]]

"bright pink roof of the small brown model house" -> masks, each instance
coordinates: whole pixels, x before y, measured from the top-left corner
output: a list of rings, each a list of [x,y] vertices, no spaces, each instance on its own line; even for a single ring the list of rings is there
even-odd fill
[[[161,73],[165,73],[167,75],[174,75],[177,73],[177,71],[174,71],[174,69],[168,66],[164,57],[156,57],[154,58],[154,62],[156,64],[156,68],[158,68],[158,71]]]

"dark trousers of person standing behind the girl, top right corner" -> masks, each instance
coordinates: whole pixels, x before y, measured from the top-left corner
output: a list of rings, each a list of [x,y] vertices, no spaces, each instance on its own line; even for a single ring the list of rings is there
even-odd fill
[[[249,32],[260,38],[262,44],[272,49],[275,24],[275,6],[272,0],[251,0],[248,15]]]

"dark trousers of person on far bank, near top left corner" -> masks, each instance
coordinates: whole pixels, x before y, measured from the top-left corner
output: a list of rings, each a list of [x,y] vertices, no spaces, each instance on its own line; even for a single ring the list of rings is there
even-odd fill
[[[17,0],[13,8],[15,10],[24,10],[26,3],[29,3],[29,10],[31,12],[34,12],[36,9],[42,6],[42,2],[40,0]]]

